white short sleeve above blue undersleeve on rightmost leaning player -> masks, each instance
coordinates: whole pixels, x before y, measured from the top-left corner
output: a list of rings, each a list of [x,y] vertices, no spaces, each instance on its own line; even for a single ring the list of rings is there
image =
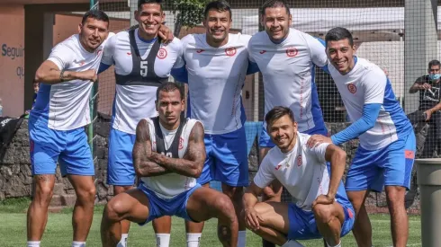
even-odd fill
[[[364,75],[362,83],[365,87],[365,104],[383,104],[387,80],[386,75],[380,68],[373,69]]]

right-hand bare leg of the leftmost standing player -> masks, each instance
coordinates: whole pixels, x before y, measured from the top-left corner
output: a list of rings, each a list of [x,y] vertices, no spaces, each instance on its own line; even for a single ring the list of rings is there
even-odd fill
[[[96,194],[94,177],[68,175],[67,178],[76,192],[76,203],[72,214],[73,241],[85,242],[94,218],[94,197]]]

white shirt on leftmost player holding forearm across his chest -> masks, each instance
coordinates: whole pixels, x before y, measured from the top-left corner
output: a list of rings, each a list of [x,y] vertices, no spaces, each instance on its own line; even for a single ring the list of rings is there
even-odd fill
[[[109,37],[113,33],[109,34]],[[108,39],[107,39],[108,40]],[[58,43],[50,52],[49,61],[59,70],[81,72],[88,69],[98,71],[104,44],[94,52],[88,52],[79,41],[79,35],[70,36]],[[37,101],[31,116],[47,119],[48,127],[56,130],[81,128],[90,123],[89,97],[93,84],[87,80],[72,80],[59,84],[40,84]]]

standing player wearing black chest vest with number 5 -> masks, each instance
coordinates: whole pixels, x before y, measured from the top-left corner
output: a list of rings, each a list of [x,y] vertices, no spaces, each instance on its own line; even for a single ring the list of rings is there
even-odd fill
[[[157,115],[157,86],[168,81],[174,66],[184,65],[181,41],[175,38],[165,45],[158,36],[165,20],[161,1],[139,0],[134,14],[139,27],[109,38],[100,66],[102,72],[114,65],[116,80],[107,166],[107,183],[113,185],[114,195],[132,189],[135,182],[131,152],[136,125],[142,118]],[[126,246],[129,228],[129,221],[122,223],[120,246]],[[157,238],[168,245],[169,235],[160,234]]]

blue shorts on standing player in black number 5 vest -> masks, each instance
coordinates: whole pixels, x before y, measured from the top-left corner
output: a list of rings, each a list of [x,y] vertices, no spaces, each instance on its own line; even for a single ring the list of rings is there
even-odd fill
[[[132,150],[136,135],[111,128],[109,135],[109,161],[107,184],[131,186],[135,183]]]

